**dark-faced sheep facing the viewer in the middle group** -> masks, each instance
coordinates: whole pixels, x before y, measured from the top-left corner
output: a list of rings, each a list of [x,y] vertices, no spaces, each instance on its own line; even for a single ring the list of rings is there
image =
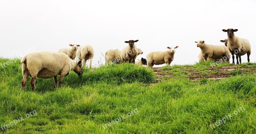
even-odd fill
[[[124,41],[125,43],[129,43],[129,45],[124,47],[124,49],[121,51],[120,56],[123,62],[129,61],[129,63],[135,63],[135,59],[138,55],[138,49],[134,43],[138,41],[139,40]]]

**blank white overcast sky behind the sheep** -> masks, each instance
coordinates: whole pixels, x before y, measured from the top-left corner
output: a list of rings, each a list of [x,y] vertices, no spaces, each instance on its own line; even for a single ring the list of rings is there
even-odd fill
[[[222,29],[233,28],[236,36],[250,41],[255,62],[255,7],[255,0],[0,0],[0,56],[89,44],[95,66],[100,58],[104,63],[101,53],[122,50],[128,45],[124,41],[138,39],[136,46],[144,53],[137,59],[179,46],[171,65],[193,64],[200,52],[195,41],[224,45],[220,40],[227,39],[227,32]]]

